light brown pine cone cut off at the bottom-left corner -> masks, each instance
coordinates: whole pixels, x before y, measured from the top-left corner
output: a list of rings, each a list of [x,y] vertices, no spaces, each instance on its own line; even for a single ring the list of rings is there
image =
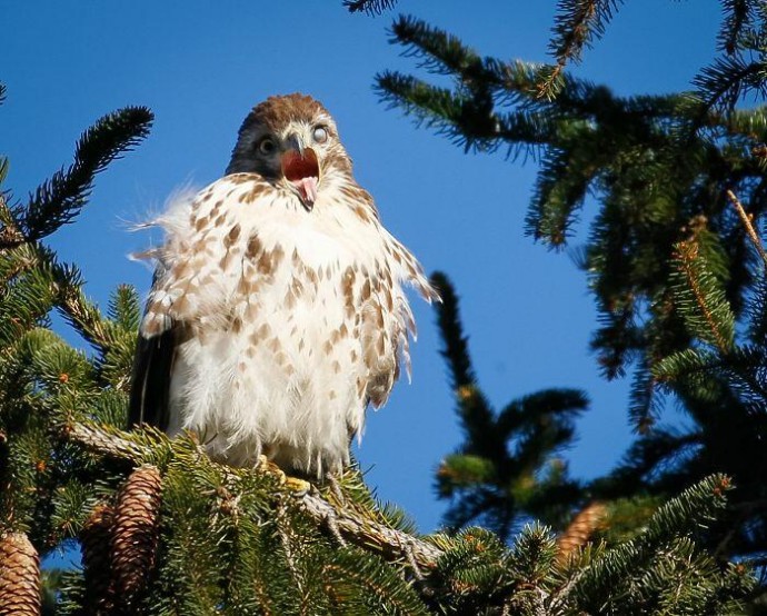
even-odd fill
[[[23,533],[0,538],[0,616],[39,616],[40,558]]]

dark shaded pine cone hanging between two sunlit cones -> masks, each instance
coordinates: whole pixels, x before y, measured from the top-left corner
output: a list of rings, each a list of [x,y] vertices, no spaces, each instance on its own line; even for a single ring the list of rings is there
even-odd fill
[[[109,559],[114,509],[98,505],[80,533],[88,614],[109,614],[114,607],[114,583]]]

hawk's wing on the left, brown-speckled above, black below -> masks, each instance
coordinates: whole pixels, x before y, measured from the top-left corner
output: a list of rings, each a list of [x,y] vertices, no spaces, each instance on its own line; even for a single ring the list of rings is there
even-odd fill
[[[166,242],[148,251],[158,261],[139,330],[129,403],[129,427],[167,429],[170,381],[178,347],[192,324],[221,314],[238,260],[230,250],[240,234],[231,206],[259,200],[269,186],[259,176],[227,176],[197,195],[180,195],[157,223]],[[241,238],[240,238],[241,239]]]

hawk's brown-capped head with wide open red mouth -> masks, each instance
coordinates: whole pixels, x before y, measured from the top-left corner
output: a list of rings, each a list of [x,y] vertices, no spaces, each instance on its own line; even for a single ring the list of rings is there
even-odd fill
[[[227,173],[259,173],[311,210],[326,178],[351,175],[351,160],[328,110],[311,97],[270,97],[240,128]]]

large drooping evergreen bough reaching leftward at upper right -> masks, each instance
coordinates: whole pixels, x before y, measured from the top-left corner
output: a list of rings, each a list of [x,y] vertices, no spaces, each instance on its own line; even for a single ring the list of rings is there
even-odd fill
[[[540,158],[529,235],[561,248],[587,195],[599,199],[580,251],[602,322],[592,347],[608,378],[635,362],[632,414],[645,427],[653,420],[651,396],[639,394],[651,389],[653,366],[690,341],[667,285],[675,245],[707,227],[711,237],[701,249],[710,258],[717,252],[736,315],[751,282],[748,240],[725,189],[747,200],[754,216],[763,213],[764,108],[707,113],[706,130],[697,131],[706,107],[687,95],[616,97],[564,74],[561,92],[549,101],[538,96],[540,67],[482,58],[407,17],[395,22],[394,40],[430,72],[454,77],[455,87],[385,72],[377,78],[385,101],[466,150]]]

